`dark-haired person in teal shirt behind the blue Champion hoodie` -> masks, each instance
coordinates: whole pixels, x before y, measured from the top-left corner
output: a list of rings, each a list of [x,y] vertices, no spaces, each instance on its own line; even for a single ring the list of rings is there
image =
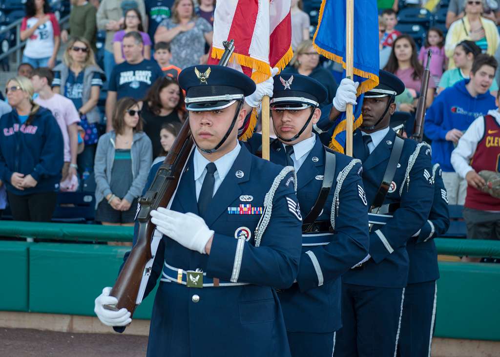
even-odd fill
[[[472,62],[477,54],[481,53],[481,49],[473,41],[464,40],[458,43],[453,52],[453,60],[456,67],[448,69],[442,73],[441,80],[437,88],[437,94],[445,88],[452,86],[459,80],[468,79]],[[489,87],[491,95],[496,96],[498,84],[493,80]]]

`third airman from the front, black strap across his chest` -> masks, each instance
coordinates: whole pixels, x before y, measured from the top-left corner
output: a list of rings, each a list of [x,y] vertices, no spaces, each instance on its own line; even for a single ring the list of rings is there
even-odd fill
[[[408,276],[406,242],[432,205],[432,168],[424,144],[403,139],[389,127],[394,97],[404,84],[383,70],[379,79],[365,93],[363,122],[353,134],[353,156],[362,161],[370,208],[369,254],[343,275],[343,326],[335,357],[395,354]]]

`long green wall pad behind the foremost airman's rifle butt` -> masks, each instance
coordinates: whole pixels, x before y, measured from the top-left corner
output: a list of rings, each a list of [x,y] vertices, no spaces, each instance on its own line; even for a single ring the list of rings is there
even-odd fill
[[[94,299],[117,277],[126,246],[32,244],[29,252],[29,310],[94,315]],[[155,290],[134,313],[150,318]]]

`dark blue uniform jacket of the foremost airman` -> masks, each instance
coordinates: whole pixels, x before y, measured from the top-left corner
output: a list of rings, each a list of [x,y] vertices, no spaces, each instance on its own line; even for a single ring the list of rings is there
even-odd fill
[[[151,168],[146,187],[160,164]],[[147,294],[160,277],[151,316],[148,356],[289,356],[274,288],[289,287],[298,271],[301,221],[289,208],[289,200],[297,200],[293,172],[276,180],[272,213],[260,246],[254,246],[254,238],[262,214],[228,213],[240,204],[263,207],[264,196],[282,169],[241,147],[203,217],[215,231],[210,255],[162,237],[146,288]],[[199,214],[193,171],[191,154],[171,209]],[[243,175],[236,174],[237,171]],[[242,195],[251,195],[253,199],[241,201]],[[245,228],[251,234],[249,239],[236,238]],[[230,281],[239,263],[239,275],[236,281]],[[217,277],[220,285],[186,287],[175,281],[177,269],[201,269],[204,283]],[[194,302],[194,294],[199,296],[198,302]]]

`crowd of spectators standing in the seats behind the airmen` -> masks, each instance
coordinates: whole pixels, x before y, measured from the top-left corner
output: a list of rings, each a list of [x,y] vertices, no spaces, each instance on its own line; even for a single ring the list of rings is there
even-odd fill
[[[186,117],[176,78],[182,68],[206,62],[215,1],[71,2],[69,23],[60,30],[47,0],[26,1],[23,63],[7,83],[9,105],[0,102],[0,113],[13,109],[0,120],[6,133],[0,143],[0,212],[8,196],[14,219],[50,220],[56,191],[83,189],[93,180],[95,220],[131,224],[151,162],[165,157]],[[500,126],[495,103],[500,8],[482,0],[448,2],[445,23],[428,26],[417,38],[401,33],[398,12],[405,7],[437,11],[440,1],[377,0],[380,68],[404,82],[406,89],[395,101],[397,110],[411,117],[431,52],[424,133],[433,162],[443,171],[449,203],[465,204],[470,223],[478,221],[477,210],[486,210],[474,203],[473,191],[483,183],[477,170],[484,160],[475,165],[470,160],[482,147],[485,125]],[[335,95],[339,72],[314,49],[314,23],[302,8],[301,0],[291,1],[294,55],[284,71],[319,80],[328,90],[324,105]],[[105,33],[101,66],[98,31]],[[61,41],[65,50],[56,63]],[[49,125],[49,117],[58,125]],[[19,150],[15,157],[7,154],[12,147]],[[481,148],[481,157],[489,154]],[[498,220],[500,208],[492,214],[488,219]],[[478,231],[485,234],[471,227],[469,235]],[[496,228],[491,236],[499,234]]]

